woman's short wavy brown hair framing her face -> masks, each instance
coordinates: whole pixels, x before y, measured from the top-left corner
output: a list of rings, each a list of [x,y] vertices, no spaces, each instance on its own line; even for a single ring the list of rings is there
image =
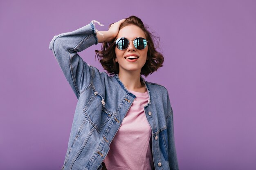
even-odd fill
[[[141,75],[147,77],[149,74],[152,74],[154,71],[157,71],[159,67],[162,67],[164,62],[164,57],[161,53],[159,53],[156,49],[158,48],[159,41],[157,42],[157,46],[155,46],[153,38],[156,39],[155,35],[150,33],[147,29],[148,26],[144,25],[141,19],[132,15],[120,25],[119,30],[124,28],[128,25],[136,25],[144,31],[146,35],[146,40],[148,41],[148,52],[147,52],[147,59],[144,66],[141,68]],[[109,25],[110,28],[111,24]],[[160,38],[159,38],[160,40]],[[103,42],[101,45],[101,51],[95,50],[95,57],[101,58],[99,62],[103,66],[103,68],[108,71],[110,75],[118,74],[119,73],[119,64],[115,62],[116,54],[115,54],[115,39],[111,40],[110,42]]]

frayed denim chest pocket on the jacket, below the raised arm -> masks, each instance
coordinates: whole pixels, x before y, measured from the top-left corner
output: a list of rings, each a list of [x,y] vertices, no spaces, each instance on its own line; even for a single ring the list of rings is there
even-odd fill
[[[100,132],[102,127],[110,119],[112,112],[105,108],[105,102],[101,95],[94,94],[88,104],[83,108],[83,113],[87,117],[88,121],[97,132]]]

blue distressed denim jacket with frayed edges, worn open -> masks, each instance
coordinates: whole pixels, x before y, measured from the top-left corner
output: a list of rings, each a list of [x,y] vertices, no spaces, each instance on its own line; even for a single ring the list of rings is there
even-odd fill
[[[55,35],[49,44],[78,99],[61,170],[101,170],[110,143],[136,97],[118,74],[109,76],[105,71],[99,72],[77,53],[98,44],[94,22],[97,21]],[[155,170],[178,170],[168,91],[143,77],[141,80],[149,95],[144,111],[152,130],[150,141]]]

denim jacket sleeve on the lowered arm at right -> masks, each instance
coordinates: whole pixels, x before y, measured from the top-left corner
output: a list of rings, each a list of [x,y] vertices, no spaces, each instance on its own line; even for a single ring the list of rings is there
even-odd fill
[[[179,170],[176,148],[175,148],[175,141],[174,141],[173,109],[171,107],[169,95],[167,97],[167,108],[168,108],[168,115],[166,116],[166,126],[167,126],[167,133],[168,133],[168,162],[169,162],[170,170]]]

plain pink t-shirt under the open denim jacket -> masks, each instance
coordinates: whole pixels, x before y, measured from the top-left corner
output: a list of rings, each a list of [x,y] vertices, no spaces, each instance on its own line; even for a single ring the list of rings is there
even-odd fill
[[[148,92],[130,92],[136,98],[103,162],[108,170],[153,170],[150,149],[152,131],[144,112],[144,105],[148,103]]]

